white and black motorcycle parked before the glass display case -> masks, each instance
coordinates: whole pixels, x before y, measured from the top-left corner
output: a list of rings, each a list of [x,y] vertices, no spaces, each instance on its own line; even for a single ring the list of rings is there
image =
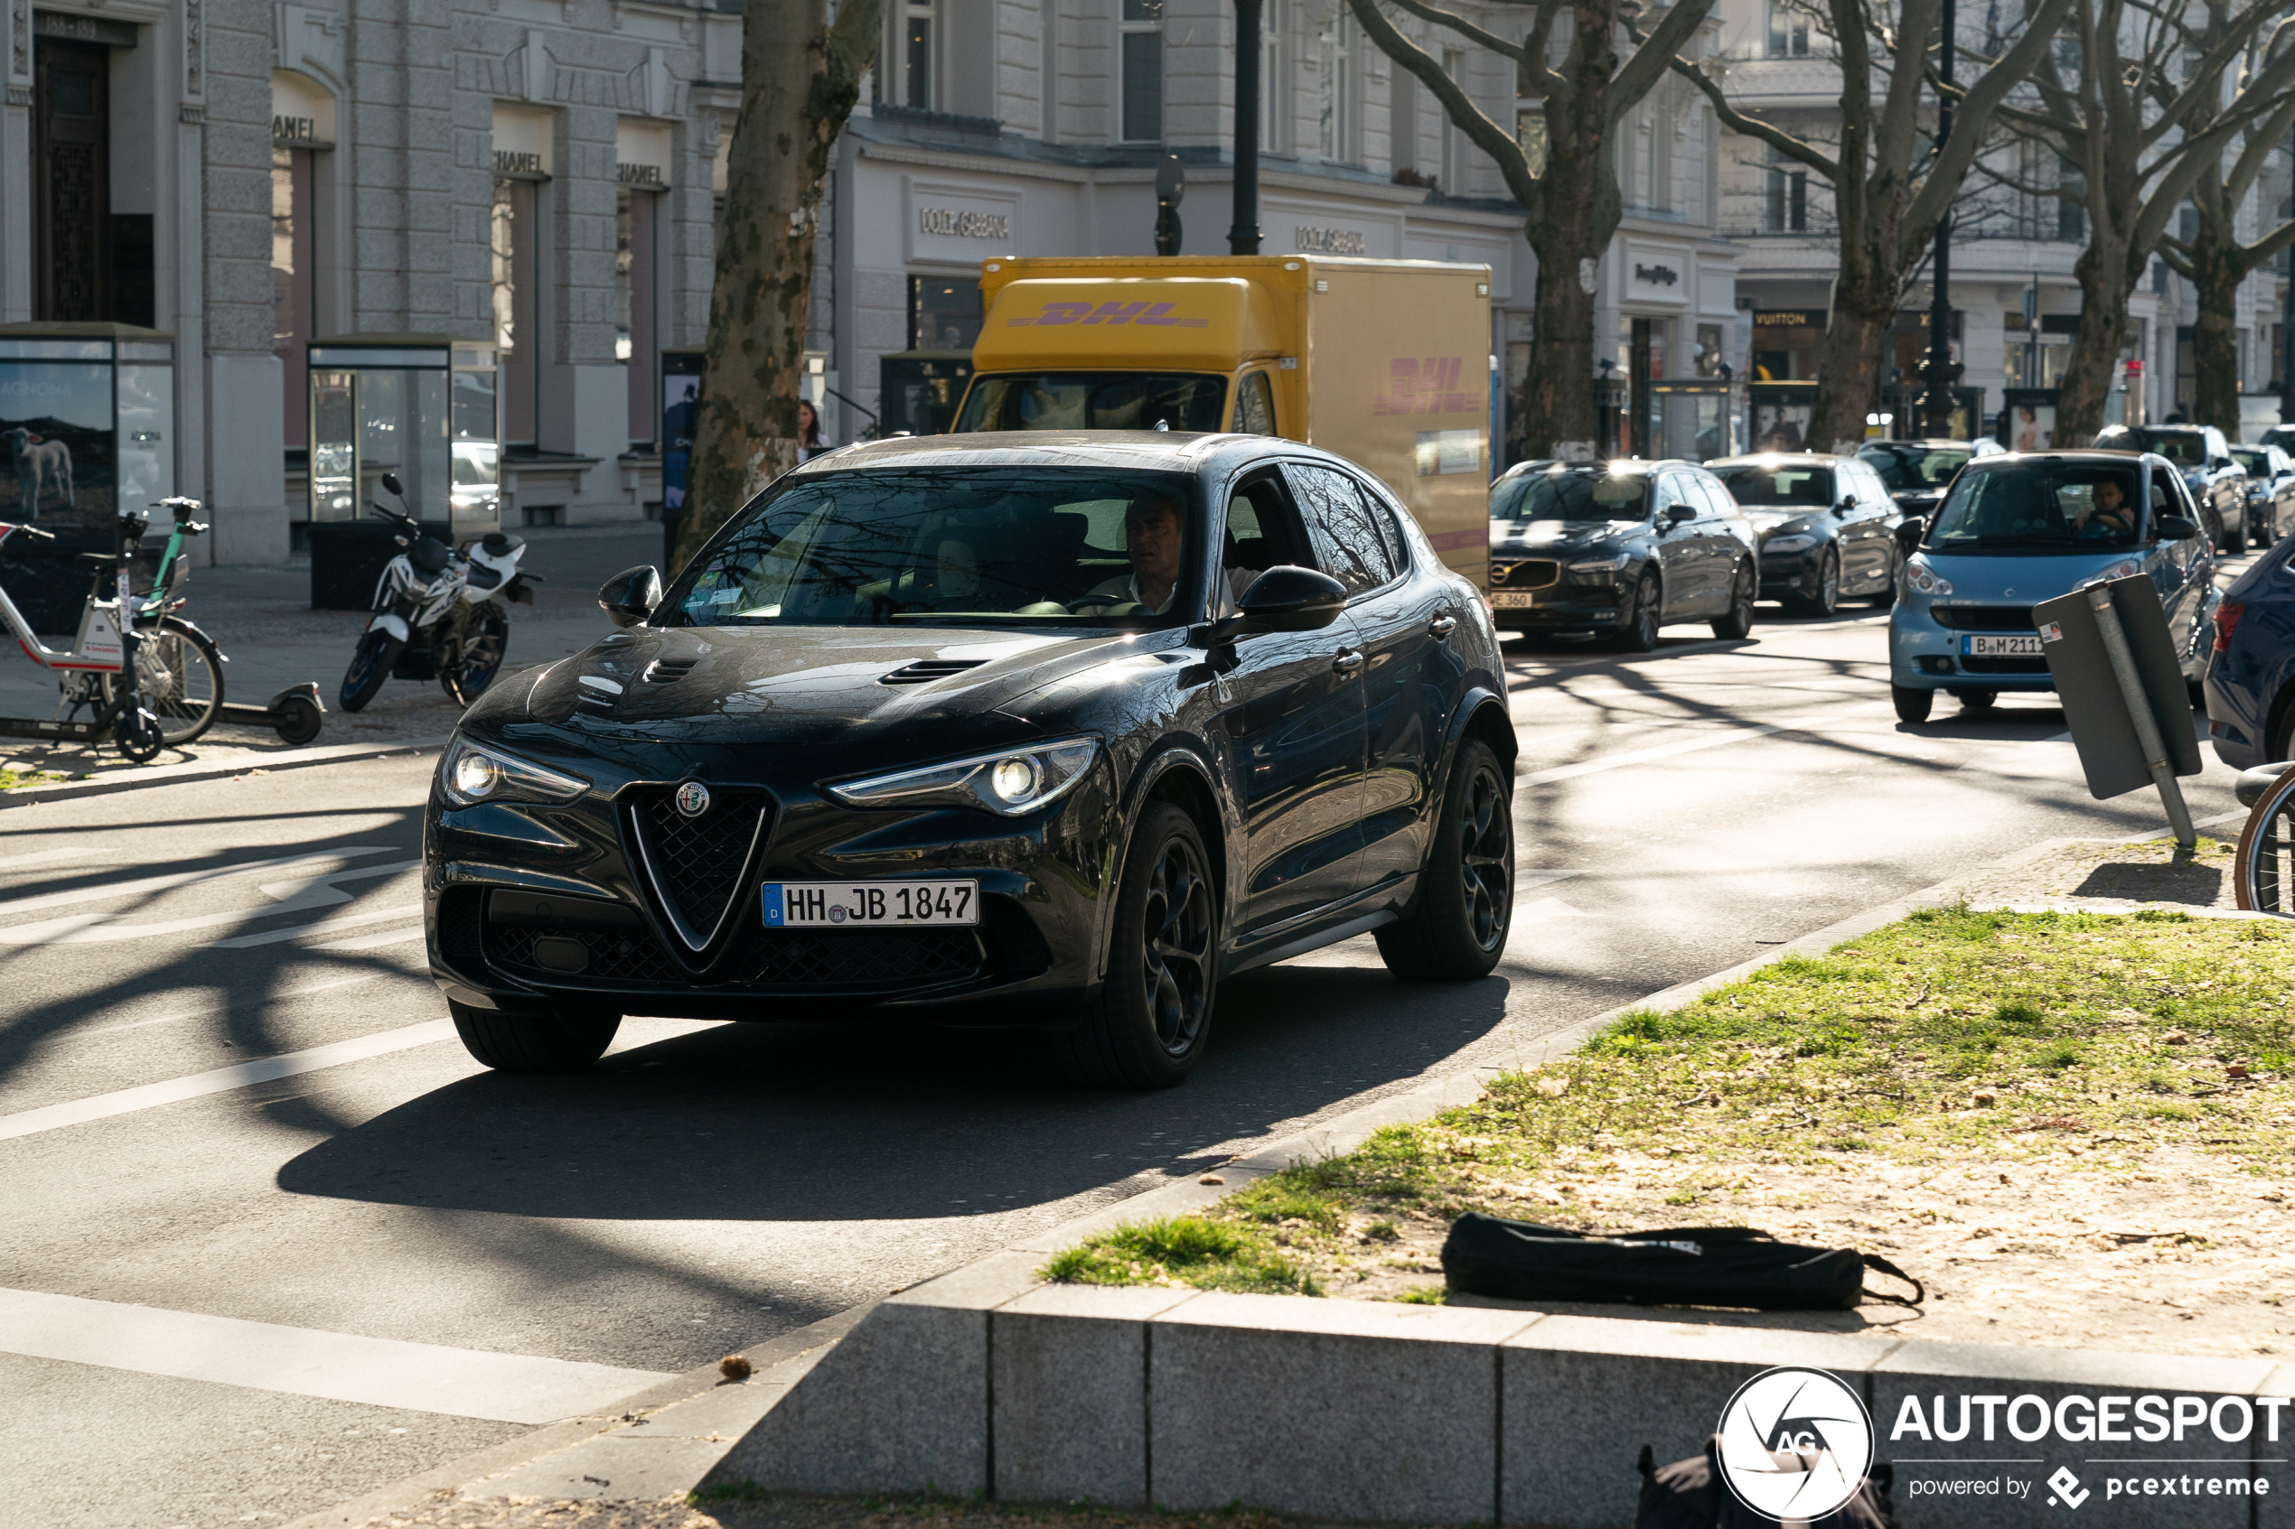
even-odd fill
[[[383,488],[406,504],[397,472],[383,475]],[[397,527],[392,541],[406,550],[390,559],[374,585],[374,619],[342,676],[342,708],[358,711],[372,701],[392,674],[436,679],[468,706],[503,669],[503,651],[509,646],[509,610],[503,601],[530,605],[530,585],[544,582],[539,573],[519,569],[526,539],[487,532],[450,548],[411,513],[381,504],[367,509]]]

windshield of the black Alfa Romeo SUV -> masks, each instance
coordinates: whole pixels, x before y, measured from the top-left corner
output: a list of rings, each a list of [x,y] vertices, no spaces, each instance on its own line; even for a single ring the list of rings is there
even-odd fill
[[[1134,626],[1196,527],[1180,472],[973,468],[801,477],[755,500],[663,601],[666,626]],[[1134,525],[1148,534],[1131,536]],[[1138,548],[1143,562],[1134,562]],[[1168,612],[1175,594],[1164,594]]]

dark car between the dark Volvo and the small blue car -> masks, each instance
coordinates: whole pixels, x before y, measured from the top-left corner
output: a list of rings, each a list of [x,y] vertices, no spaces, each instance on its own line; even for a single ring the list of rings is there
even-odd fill
[[[1896,598],[1903,520],[1880,472],[1854,456],[1728,456],[1705,463],[1760,539],[1760,596],[1829,617],[1841,596]]]

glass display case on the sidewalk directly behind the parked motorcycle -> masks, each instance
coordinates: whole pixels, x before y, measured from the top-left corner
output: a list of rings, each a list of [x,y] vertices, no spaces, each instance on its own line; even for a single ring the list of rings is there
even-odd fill
[[[500,385],[491,342],[335,335],[310,344],[310,589],[365,610],[397,552],[369,504],[397,475],[406,513],[445,541],[500,530]]]

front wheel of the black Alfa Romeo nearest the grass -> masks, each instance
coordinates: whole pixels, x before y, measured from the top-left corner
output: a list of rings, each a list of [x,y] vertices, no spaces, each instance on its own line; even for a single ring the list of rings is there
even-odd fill
[[[1177,1087],[1203,1059],[1219,997],[1219,885],[1180,807],[1148,802],[1131,830],[1113,924],[1099,999],[1056,1036],[1060,1071],[1095,1089]]]

